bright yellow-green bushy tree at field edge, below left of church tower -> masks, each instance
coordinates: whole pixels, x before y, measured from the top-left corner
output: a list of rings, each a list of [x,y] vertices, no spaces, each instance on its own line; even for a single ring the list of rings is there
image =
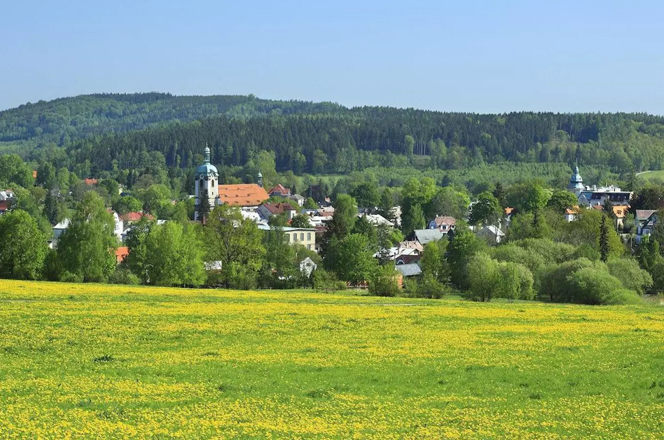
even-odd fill
[[[175,221],[153,225],[145,237],[147,282],[157,286],[200,286],[203,252],[193,227]]]

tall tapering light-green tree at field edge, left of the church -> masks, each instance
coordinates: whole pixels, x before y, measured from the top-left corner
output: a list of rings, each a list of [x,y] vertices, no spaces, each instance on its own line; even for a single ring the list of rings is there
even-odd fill
[[[72,279],[105,282],[116,269],[115,222],[104,201],[88,191],[78,204],[69,227],[58,239],[58,258]]]

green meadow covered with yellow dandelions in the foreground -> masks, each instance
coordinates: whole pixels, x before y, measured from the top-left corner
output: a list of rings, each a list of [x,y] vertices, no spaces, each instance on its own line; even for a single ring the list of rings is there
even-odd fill
[[[0,280],[0,438],[664,436],[664,310]]]

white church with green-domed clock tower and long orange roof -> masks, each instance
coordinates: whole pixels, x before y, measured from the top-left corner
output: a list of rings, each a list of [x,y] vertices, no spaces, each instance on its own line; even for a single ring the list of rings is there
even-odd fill
[[[205,162],[196,168],[194,177],[196,210],[194,220],[199,219],[199,206],[206,203],[201,195],[207,191],[207,203],[210,209],[224,203],[240,207],[243,211],[255,211],[270,198],[263,187],[263,176],[258,173],[258,183],[240,183],[237,185],[219,185],[219,172],[210,164],[210,148],[205,146]]]

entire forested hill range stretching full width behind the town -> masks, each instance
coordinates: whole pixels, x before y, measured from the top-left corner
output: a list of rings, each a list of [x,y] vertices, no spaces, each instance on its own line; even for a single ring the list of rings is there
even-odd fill
[[[0,112],[0,142],[37,162],[87,164],[79,173],[149,167],[153,152],[166,167],[191,168],[205,143],[217,165],[244,166],[266,150],[278,170],[295,173],[497,162],[664,168],[661,116],[345,108],[254,96],[98,94],[26,104]]]

